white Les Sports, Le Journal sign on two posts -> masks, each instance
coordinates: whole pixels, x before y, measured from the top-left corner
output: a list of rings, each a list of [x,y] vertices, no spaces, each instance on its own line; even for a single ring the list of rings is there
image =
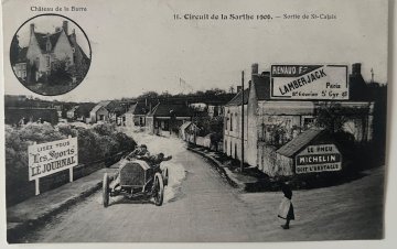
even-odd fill
[[[46,143],[34,143],[28,148],[29,181],[36,181],[36,195],[39,178],[69,169],[69,181],[73,182],[73,166],[78,163],[77,138],[67,138]]]

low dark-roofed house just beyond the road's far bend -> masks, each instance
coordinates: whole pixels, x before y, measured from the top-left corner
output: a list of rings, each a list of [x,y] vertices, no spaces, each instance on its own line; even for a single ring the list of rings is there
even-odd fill
[[[185,121],[191,121],[193,111],[185,105],[159,102],[147,116],[149,132],[160,136],[178,134]]]

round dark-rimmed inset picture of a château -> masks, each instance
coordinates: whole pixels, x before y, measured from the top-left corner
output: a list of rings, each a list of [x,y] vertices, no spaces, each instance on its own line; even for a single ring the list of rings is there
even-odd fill
[[[39,95],[71,91],[87,75],[90,61],[86,33],[76,22],[58,14],[28,20],[11,42],[10,62],[17,78]]]

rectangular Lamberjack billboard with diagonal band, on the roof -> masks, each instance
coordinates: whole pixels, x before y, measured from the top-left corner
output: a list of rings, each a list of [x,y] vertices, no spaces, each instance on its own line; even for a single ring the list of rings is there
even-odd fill
[[[271,65],[272,99],[348,100],[346,65]]]

